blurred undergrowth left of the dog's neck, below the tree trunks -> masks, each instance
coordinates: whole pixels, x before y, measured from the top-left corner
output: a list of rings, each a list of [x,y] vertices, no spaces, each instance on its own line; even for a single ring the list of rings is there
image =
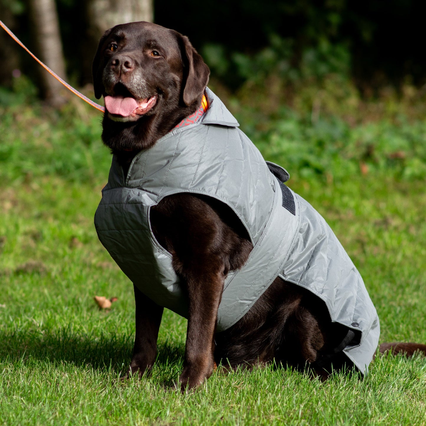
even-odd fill
[[[25,76],[14,79],[13,90],[0,90],[1,178],[30,181],[58,175],[90,181],[107,169],[110,158],[101,143],[100,114],[88,111],[91,107],[74,95],[60,110],[40,103],[36,95]]]

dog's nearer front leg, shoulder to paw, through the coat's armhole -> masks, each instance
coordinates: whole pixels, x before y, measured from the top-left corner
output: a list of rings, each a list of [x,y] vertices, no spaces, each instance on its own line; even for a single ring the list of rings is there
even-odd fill
[[[181,390],[199,386],[213,372],[214,333],[223,285],[242,239],[222,219],[222,203],[209,197],[176,194],[152,207],[157,241],[173,255],[173,269],[188,296],[188,326]],[[221,210],[222,209],[222,210]],[[226,213],[226,214],[225,214]],[[232,216],[231,216],[232,218]]]

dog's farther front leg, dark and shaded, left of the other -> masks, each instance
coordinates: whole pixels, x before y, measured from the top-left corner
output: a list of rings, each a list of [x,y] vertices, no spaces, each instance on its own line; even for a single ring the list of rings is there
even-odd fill
[[[157,356],[157,338],[163,308],[145,296],[135,285],[136,332],[129,373],[144,374]]]

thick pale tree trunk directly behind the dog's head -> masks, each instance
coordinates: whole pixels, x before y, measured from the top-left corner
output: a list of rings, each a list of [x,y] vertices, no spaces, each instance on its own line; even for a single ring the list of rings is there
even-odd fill
[[[117,24],[135,21],[153,22],[153,0],[87,0],[86,18],[88,40],[86,49],[83,50],[85,53],[83,75],[91,75],[93,56],[104,32]]]

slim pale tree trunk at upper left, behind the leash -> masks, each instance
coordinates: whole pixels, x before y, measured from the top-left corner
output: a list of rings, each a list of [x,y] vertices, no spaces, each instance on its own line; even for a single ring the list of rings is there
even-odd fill
[[[29,15],[40,60],[65,80],[65,61],[55,0],[29,0]],[[54,106],[63,104],[65,100],[60,95],[62,84],[44,69],[41,69],[40,78],[44,98]]]

